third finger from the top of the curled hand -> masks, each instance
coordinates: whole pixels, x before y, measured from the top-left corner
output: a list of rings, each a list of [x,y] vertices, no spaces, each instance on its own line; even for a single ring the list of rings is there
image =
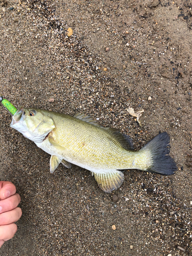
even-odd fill
[[[17,207],[13,210],[3,212],[0,214],[0,225],[8,225],[14,223],[22,216],[22,209]]]

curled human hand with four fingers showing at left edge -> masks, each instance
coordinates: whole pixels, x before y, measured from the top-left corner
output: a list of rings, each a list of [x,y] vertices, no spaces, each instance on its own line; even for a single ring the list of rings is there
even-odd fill
[[[22,209],[17,207],[20,196],[16,187],[9,181],[0,181],[0,248],[11,239],[17,231],[14,223],[22,216]]]

